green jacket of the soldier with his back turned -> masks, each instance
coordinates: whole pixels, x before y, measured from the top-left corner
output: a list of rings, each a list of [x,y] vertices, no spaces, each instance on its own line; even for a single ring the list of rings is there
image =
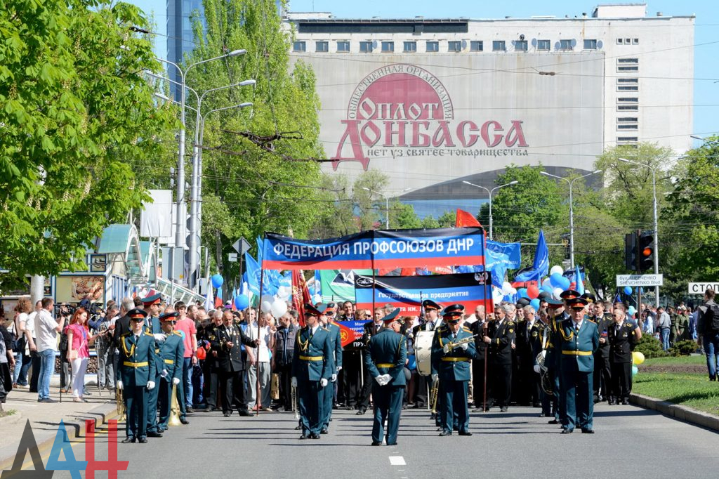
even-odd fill
[[[370,377],[388,374],[392,386],[405,386],[404,365],[407,359],[407,339],[392,329],[381,329],[372,336],[365,353],[365,367]]]

